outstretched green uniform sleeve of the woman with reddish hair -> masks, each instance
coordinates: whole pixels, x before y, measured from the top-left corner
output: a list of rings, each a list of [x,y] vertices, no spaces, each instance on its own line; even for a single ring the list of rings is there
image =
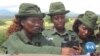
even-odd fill
[[[54,46],[37,47],[23,43],[17,36],[9,37],[2,45],[10,54],[13,53],[43,53],[43,54],[59,54],[61,48]]]

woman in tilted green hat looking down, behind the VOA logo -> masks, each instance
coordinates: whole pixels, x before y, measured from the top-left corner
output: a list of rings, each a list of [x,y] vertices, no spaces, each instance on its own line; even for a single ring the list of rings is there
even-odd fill
[[[85,14],[80,14],[73,24],[73,30],[79,36],[80,45],[85,54],[85,43],[91,41],[97,44],[94,30],[96,29],[96,21],[98,16],[92,11],[86,11]]]

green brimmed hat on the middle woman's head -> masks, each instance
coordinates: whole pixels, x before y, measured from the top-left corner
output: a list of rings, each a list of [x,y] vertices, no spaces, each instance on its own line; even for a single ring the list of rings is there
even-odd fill
[[[65,6],[62,2],[54,2],[50,4],[49,8],[49,16],[55,15],[55,14],[66,14],[69,10],[65,10]]]

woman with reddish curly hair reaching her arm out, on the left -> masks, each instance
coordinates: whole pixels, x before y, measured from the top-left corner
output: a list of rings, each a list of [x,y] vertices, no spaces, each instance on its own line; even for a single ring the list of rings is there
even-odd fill
[[[22,3],[7,31],[9,38],[2,44],[5,52],[60,54],[61,48],[49,46],[49,41],[41,33],[44,16],[37,5]]]

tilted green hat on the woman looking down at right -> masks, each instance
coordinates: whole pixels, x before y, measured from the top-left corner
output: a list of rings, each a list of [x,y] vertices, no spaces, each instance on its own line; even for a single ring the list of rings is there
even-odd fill
[[[84,25],[91,29],[96,29],[98,16],[92,11],[86,11],[85,14],[78,18]]]

